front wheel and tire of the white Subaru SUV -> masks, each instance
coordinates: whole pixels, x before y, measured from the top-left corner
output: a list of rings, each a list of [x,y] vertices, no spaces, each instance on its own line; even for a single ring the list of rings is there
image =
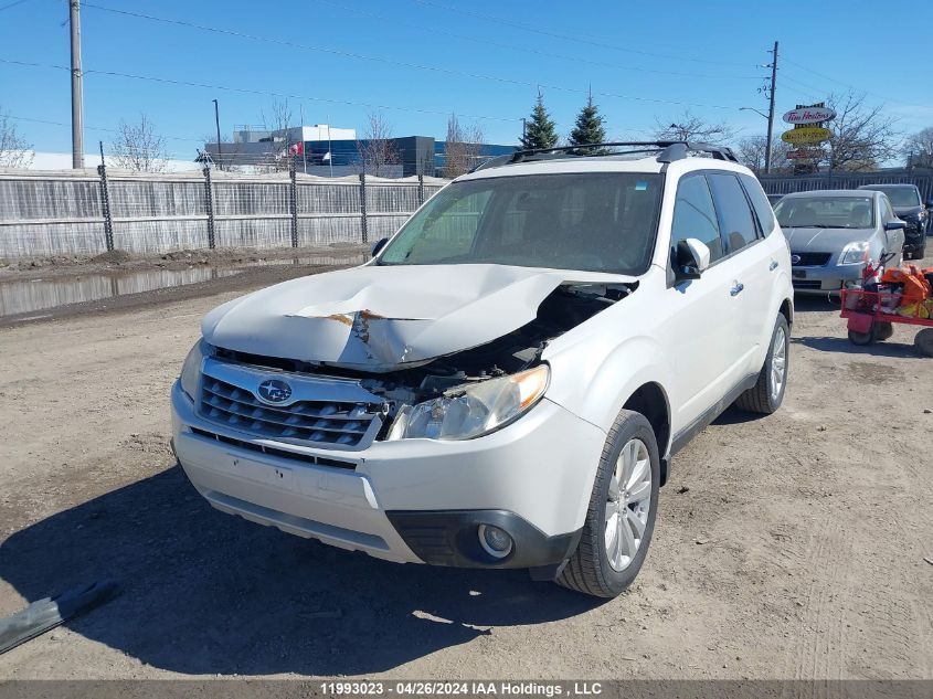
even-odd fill
[[[624,468],[627,456],[633,455],[632,449],[634,458],[628,460],[636,464],[634,469],[637,470],[630,474],[629,485],[635,480],[635,487],[623,491],[615,488],[617,496],[613,499],[611,491],[615,484],[626,481],[626,478],[617,478],[617,470]],[[648,459],[647,465],[644,458]],[[634,478],[636,475],[642,475],[642,478]],[[647,485],[646,478],[650,478]],[[556,583],[596,597],[615,597],[628,587],[642,569],[651,543],[659,485],[660,457],[655,431],[644,415],[624,410],[616,417],[603,446],[580,543],[558,575]],[[637,495],[644,499],[636,501]],[[607,534],[613,534],[611,527],[615,529],[615,536],[607,542]],[[636,539],[639,530],[640,539]],[[613,546],[612,542],[622,546]],[[632,544],[636,547],[635,554],[623,554],[623,549],[630,553],[628,547]]]

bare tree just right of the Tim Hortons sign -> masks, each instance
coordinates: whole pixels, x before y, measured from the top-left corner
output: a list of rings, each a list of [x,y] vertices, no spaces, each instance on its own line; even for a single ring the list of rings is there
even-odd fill
[[[830,170],[873,170],[897,152],[897,119],[883,114],[883,106],[869,107],[865,95],[848,92],[829,95],[826,106],[836,112],[827,125],[833,135],[821,165]]]

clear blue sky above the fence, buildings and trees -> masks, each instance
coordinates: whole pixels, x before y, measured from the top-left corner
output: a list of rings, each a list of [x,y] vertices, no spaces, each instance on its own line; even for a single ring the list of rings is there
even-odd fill
[[[213,98],[229,137],[235,124],[261,124],[274,98],[266,93],[290,95],[306,124],[362,129],[367,113],[380,110],[396,136],[443,138],[446,115],[457,113],[478,120],[488,141],[513,144],[539,85],[563,136],[591,86],[611,138],[648,136],[656,118],[668,124],[685,109],[753,136],[765,120],[739,107],[766,110],[760,66],[775,40],[778,114],[852,86],[884,104],[904,133],[933,126],[922,0],[83,6],[87,151],[98,139],[106,147],[120,119],[145,113],[170,152],[190,159],[214,130]],[[67,14],[65,0],[0,0],[0,108],[42,151],[71,149],[68,72],[3,61],[67,66]]]

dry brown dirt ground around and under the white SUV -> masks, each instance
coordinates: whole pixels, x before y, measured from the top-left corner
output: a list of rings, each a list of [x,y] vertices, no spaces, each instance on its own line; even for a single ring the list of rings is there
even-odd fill
[[[856,348],[798,299],[783,409],[727,412],[677,456],[645,568],[604,602],[380,562],[197,496],[169,388],[201,316],[275,274],[0,329],[0,616],[123,587],[0,656],[0,679],[933,678],[933,359],[912,330]]]

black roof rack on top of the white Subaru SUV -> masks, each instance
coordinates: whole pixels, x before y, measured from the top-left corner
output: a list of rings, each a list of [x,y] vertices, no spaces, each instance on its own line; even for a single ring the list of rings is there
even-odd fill
[[[634,148],[622,152],[605,152],[606,148]],[[595,151],[595,152],[594,152]],[[729,160],[739,162],[731,148],[715,146],[699,141],[687,140],[640,140],[640,141],[611,141],[606,144],[585,144],[581,146],[556,146],[554,148],[534,148],[528,150],[516,150],[512,153],[497,156],[483,162],[473,169],[486,170],[499,168],[506,165],[519,162],[531,162],[538,160],[564,160],[568,158],[612,158],[626,156],[636,152],[657,152],[658,162],[674,162],[687,158],[690,152],[707,152],[717,160]]]

